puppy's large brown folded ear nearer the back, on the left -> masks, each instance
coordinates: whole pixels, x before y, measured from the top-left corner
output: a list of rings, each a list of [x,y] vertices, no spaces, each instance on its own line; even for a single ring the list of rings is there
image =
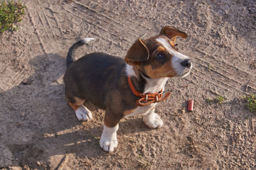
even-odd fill
[[[130,65],[137,65],[139,62],[149,60],[149,49],[145,45],[145,41],[138,39],[134,42],[132,47],[129,48],[124,61]]]

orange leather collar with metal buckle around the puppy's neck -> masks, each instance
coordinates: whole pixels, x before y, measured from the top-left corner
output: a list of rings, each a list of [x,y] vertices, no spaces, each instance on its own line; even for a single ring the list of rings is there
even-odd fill
[[[167,98],[169,98],[169,96],[171,95],[171,92],[168,91],[164,97],[163,97],[163,89],[159,92],[159,93],[155,93],[155,94],[143,94],[142,92],[137,91],[137,89],[134,88],[133,84],[132,84],[132,80],[131,77],[128,76],[128,83],[129,83],[129,87],[132,90],[132,93],[135,96],[139,96],[142,98],[139,98],[139,100],[137,100],[136,104],[137,106],[147,106],[151,103],[156,103],[159,101],[164,101]]]

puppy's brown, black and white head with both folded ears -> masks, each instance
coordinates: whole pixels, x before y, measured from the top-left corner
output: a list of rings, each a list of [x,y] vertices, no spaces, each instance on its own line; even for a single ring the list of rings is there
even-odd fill
[[[186,77],[191,72],[192,62],[178,52],[177,36],[187,38],[186,33],[166,26],[159,35],[146,40],[139,38],[130,47],[124,60],[152,79]]]

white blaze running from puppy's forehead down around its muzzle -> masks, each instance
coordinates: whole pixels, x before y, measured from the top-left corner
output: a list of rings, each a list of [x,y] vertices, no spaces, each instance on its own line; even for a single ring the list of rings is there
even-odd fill
[[[156,41],[160,42],[161,45],[169,52],[169,54],[173,56],[171,64],[172,67],[175,69],[177,76],[186,77],[189,72],[187,74],[184,74],[187,68],[183,67],[183,65],[181,65],[181,62],[184,60],[188,60],[189,58],[186,55],[182,55],[180,52],[174,50],[165,38],[157,38]]]

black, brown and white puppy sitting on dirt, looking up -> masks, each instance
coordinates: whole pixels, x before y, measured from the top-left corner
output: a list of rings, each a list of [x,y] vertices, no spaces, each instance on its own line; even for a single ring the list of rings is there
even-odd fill
[[[85,101],[105,109],[100,147],[106,152],[117,147],[118,123],[124,117],[143,115],[149,128],[163,125],[154,110],[156,103],[170,95],[163,94],[166,81],[186,77],[192,69],[191,60],[178,52],[177,36],[187,38],[181,30],[166,26],[159,35],[136,40],[124,59],[96,52],[74,62],[73,51],[93,38],[70,47],[64,76],[65,98],[79,120],[92,119],[92,113],[82,105]]]

